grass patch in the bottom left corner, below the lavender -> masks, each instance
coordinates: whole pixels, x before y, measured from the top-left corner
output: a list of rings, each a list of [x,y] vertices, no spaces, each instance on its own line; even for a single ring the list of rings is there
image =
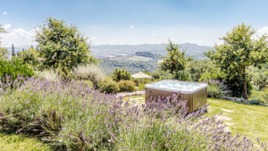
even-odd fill
[[[25,135],[16,135],[14,132],[0,130],[0,150],[5,151],[24,151],[24,150],[52,150],[51,147],[44,144],[38,138],[32,138]]]

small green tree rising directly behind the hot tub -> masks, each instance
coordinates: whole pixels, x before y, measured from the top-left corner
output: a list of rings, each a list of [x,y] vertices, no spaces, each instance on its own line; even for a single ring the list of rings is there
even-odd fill
[[[161,71],[170,71],[170,73],[175,74],[176,78],[185,79],[185,67],[188,62],[193,61],[192,56],[185,54],[185,50],[180,52],[180,47],[178,45],[172,44],[172,41],[169,39],[169,44],[165,45],[165,50],[167,55],[163,56],[163,62],[159,64]]]

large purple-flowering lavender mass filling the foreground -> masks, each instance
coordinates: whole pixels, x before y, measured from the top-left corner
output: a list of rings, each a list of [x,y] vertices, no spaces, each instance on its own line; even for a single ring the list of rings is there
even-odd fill
[[[178,94],[138,106],[76,81],[30,78],[21,86],[17,81],[14,90],[10,82],[0,83],[0,124],[49,136],[44,140],[57,149],[255,149],[246,137],[224,131],[215,116],[204,117],[201,110],[187,114],[186,101],[178,100]]]

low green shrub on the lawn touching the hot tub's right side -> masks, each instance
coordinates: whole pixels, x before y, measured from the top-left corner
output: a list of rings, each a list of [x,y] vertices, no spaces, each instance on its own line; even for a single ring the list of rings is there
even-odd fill
[[[207,96],[213,98],[222,98],[222,96],[230,96],[229,88],[220,80],[203,80],[208,85]]]

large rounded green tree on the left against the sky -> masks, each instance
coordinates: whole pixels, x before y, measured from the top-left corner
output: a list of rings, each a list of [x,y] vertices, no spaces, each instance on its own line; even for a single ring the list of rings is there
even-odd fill
[[[40,56],[46,59],[41,69],[53,67],[66,78],[73,67],[96,63],[96,58],[90,55],[88,38],[84,38],[76,26],[50,16],[38,27],[40,30],[36,30],[35,40],[41,49]]]

